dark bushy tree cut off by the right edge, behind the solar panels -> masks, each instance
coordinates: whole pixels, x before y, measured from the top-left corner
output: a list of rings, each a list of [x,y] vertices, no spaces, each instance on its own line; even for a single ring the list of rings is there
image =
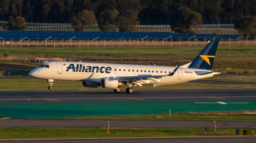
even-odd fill
[[[236,22],[235,29],[242,32],[246,38],[254,38],[256,36],[256,16],[241,18]]]

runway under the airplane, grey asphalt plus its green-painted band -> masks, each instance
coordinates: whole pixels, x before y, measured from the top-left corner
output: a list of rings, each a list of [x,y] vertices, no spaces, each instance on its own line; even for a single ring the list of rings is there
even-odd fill
[[[256,109],[256,89],[2,91],[1,117],[70,117]]]

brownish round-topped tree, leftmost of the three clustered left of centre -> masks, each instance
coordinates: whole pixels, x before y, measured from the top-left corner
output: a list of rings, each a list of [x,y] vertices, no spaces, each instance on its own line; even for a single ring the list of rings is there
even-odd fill
[[[83,10],[78,12],[76,16],[73,16],[70,23],[76,31],[82,31],[85,30],[86,25],[97,24],[97,20],[92,11]]]

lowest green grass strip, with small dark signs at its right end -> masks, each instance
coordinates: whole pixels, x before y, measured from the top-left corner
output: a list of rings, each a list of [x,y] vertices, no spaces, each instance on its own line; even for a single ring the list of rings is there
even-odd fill
[[[214,129],[208,129],[213,131]],[[242,129],[240,129],[242,130]],[[252,129],[255,131],[255,129]],[[204,133],[204,128],[58,128],[58,127],[2,127],[0,139],[79,139],[124,137],[211,137],[235,136],[235,129],[218,129]],[[240,131],[242,135],[242,131]]]

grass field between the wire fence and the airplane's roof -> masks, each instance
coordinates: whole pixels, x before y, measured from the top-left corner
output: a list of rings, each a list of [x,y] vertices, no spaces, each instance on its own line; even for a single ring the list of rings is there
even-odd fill
[[[33,61],[35,57],[66,58],[86,62],[181,66],[191,62],[201,47],[98,47],[98,48],[1,48],[0,55]],[[213,68],[256,68],[255,47],[219,47]],[[4,59],[2,59],[4,61]],[[13,60],[10,60],[13,61]],[[28,61],[28,60],[26,60]],[[14,60],[15,62],[15,60]]]

